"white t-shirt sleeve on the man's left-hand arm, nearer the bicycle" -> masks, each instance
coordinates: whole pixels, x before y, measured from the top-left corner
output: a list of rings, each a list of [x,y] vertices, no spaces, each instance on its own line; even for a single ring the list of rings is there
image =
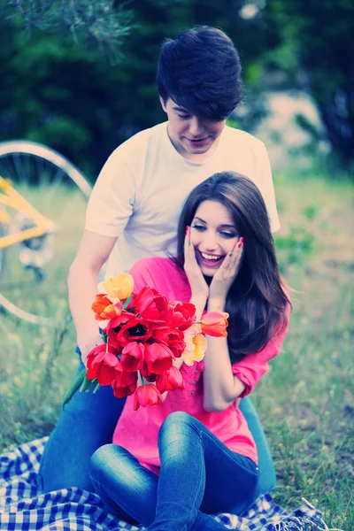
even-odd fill
[[[119,148],[101,170],[89,198],[85,228],[98,235],[119,236],[133,213],[135,178]]]

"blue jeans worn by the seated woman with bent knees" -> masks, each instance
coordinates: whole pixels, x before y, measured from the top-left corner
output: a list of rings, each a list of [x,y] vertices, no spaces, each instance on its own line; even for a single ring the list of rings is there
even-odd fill
[[[158,433],[158,453],[159,476],[116,444],[94,453],[91,480],[119,518],[127,519],[128,514],[150,531],[225,531],[208,514],[241,514],[254,499],[258,466],[228,450],[186,412],[173,412],[165,419]]]

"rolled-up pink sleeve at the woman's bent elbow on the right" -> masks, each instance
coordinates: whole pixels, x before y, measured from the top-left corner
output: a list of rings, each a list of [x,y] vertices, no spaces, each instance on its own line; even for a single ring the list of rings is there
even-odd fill
[[[276,335],[260,352],[249,354],[242,361],[233,364],[233,374],[246,386],[240,398],[249,395],[250,391],[256,387],[258,381],[267,372],[269,369],[268,361],[274,358],[281,350],[281,344],[288,333],[288,328],[289,324],[287,324],[281,334]]]

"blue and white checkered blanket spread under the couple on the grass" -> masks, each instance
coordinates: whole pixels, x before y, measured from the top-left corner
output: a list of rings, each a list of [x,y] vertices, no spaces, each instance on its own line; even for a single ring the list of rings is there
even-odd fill
[[[0,455],[0,529],[2,531],[142,531],[118,521],[96,494],[61,489],[42,494],[36,473],[47,438],[21,444]],[[286,512],[272,496],[260,496],[241,517],[218,514],[225,527],[239,531],[319,531],[327,529],[321,513],[310,504]]]

